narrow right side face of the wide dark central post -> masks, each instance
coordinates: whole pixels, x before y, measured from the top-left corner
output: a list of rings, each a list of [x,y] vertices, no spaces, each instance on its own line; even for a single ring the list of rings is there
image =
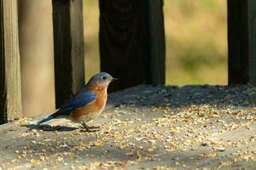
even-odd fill
[[[166,41],[164,26],[164,1],[147,0],[148,3],[148,43],[149,68],[148,83],[166,82]]]

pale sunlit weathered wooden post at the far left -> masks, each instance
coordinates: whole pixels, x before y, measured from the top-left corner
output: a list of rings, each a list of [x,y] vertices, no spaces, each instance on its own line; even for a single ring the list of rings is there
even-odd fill
[[[0,124],[21,116],[16,0],[0,0]]]

